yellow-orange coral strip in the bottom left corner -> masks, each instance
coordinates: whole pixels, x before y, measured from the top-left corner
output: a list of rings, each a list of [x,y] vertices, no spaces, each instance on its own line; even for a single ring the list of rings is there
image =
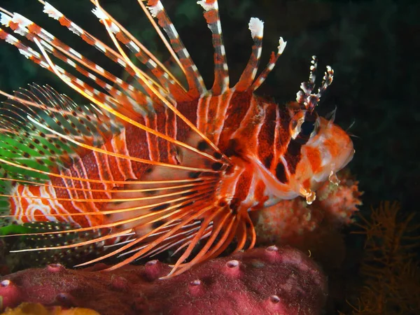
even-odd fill
[[[6,309],[2,315],[99,315],[92,309],[78,307],[63,309],[62,307],[44,307],[40,303],[22,303],[14,309]]]

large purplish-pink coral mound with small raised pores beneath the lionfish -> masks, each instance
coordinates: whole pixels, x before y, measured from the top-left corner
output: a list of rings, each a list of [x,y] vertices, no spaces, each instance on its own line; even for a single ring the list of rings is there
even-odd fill
[[[102,315],[321,314],[327,296],[317,265],[288,246],[216,258],[170,279],[160,279],[171,268],[158,260],[99,271],[104,267],[48,265],[3,276],[3,307],[40,302]]]

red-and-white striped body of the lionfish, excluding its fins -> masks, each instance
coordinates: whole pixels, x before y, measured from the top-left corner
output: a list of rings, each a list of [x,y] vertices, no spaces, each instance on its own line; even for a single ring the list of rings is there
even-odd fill
[[[243,104],[249,104],[244,106]],[[300,195],[299,179],[295,172],[297,165],[302,159],[302,154],[292,150],[293,140],[290,135],[290,113],[285,108],[274,103],[267,102],[262,97],[248,92],[235,92],[229,90],[219,96],[202,97],[198,102],[184,102],[179,104],[179,110],[186,113],[186,117],[207,135],[221,151],[232,160],[233,167],[225,169],[222,174],[214,176],[217,181],[214,186],[214,195],[211,200],[216,204],[229,204],[231,209],[241,206],[243,211],[250,209],[262,209],[269,207],[279,200],[293,199]],[[164,117],[161,113],[159,117]],[[219,120],[209,122],[209,117],[220,117]],[[145,123],[146,122],[142,122]],[[328,125],[327,122],[324,122]],[[147,125],[151,125],[149,122]],[[172,127],[176,138],[191,146],[207,150],[207,144],[198,137],[190,135],[188,128],[175,129],[174,124],[168,126],[165,120],[161,121],[163,129]],[[179,122],[181,125],[181,122]],[[158,129],[158,125],[154,128]],[[332,134],[346,139],[344,132],[337,128]],[[145,144],[139,146],[139,144]],[[289,148],[290,144],[290,148]],[[120,134],[116,135],[102,146],[106,151],[132,156],[134,158],[150,159],[160,162],[181,163],[190,167],[218,168],[218,162],[209,162],[195,154],[188,154],[176,150],[175,146],[168,146],[166,141],[158,141],[156,137],[148,137],[148,134],[132,126],[127,126]],[[306,175],[312,179],[321,167],[321,151],[319,147],[304,147],[307,155],[303,155]],[[328,148],[329,155],[335,156],[335,146]],[[309,157],[309,158],[308,158]],[[181,161],[180,161],[181,160]],[[274,161],[274,162],[273,162]],[[328,163],[323,163],[328,165]],[[221,163],[220,163],[221,165]],[[264,168],[267,174],[262,171]],[[218,169],[216,169],[218,170]],[[151,174],[151,173],[154,174]],[[166,172],[167,170],[162,170]],[[171,176],[165,176],[159,169],[139,162],[116,159],[110,155],[101,155],[96,152],[88,153],[78,163],[62,170],[64,176],[81,177],[85,179],[97,179],[99,183],[85,183],[83,181],[66,180],[62,177],[52,177],[51,184],[55,188],[45,186],[16,185],[15,193],[18,197],[12,197],[13,216],[19,223],[31,221],[54,221],[78,223],[81,226],[96,226],[104,223],[104,218],[90,212],[99,213],[108,207],[108,202],[85,202],[85,200],[116,200],[124,198],[139,198],[148,193],[127,195],[127,193],[112,193],[111,190],[127,188],[127,184],[116,185],[114,181],[130,181],[147,179],[159,181],[165,179],[188,180],[202,176],[198,172],[180,172],[176,170]],[[298,174],[299,175],[299,174]],[[276,188],[272,188],[274,185]],[[109,181],[109,183],[105,183]],[[304,182],[304,181],[303,181]],[[316,187],[316,181],[305,183],[310,189]],[[133,185],[132,185],[133,186]],[[61,188],[63,187],[63,188]],[[66,188],[67,187],[67,188]],[[134,185],[135,187],[135,185]],[[132,188],[134,188],[132,187]],[[152,186],[151,186],[152,187]],[[153,188],[162,186],[154,185]],[[163,186],[165,187],[165,186]],[[297,187],[297,188],[296,188]],[[68,188],[83,188],[83,191],[73,191]],[[144,187],[143,187],[144,188]],[[295,188],[295,189],[293,189]],[[97,192],[96,190],[108,190],[109,193]],[[149,193],[150,195],[150,193]],[[34,202],[22,197],[46,196],[56,202]],[[62,201],[64,200],[64,201]],[[83,200],[78,202],[77,200]],[[134,202],[136,203],[136,202]],[[114,207],[115,208],[115,207]],[[48,217],[48,214],[85,213],[86,216],[62,216]],[[40,218],[39,215],[46,215]]]

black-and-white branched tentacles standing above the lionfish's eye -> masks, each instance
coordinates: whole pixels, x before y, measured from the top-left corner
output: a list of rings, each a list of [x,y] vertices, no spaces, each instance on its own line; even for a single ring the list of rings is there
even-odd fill
[[[318,59],[316,56],[312,56],[311,66],[309,67],[309,80],[302,82],[300,85],[301,91],[296,94],[296,102],[300,104],[301,109],[308,111],[314,111],[316,105],[318,105],[321,95],[332,83],[334,77],[334,70],[330,66],[327,66],[327,71],[322,79],[321,87],[318,88],[318,93],[314,94],[315,78],[316,78],[316,67],[318,66]]]

